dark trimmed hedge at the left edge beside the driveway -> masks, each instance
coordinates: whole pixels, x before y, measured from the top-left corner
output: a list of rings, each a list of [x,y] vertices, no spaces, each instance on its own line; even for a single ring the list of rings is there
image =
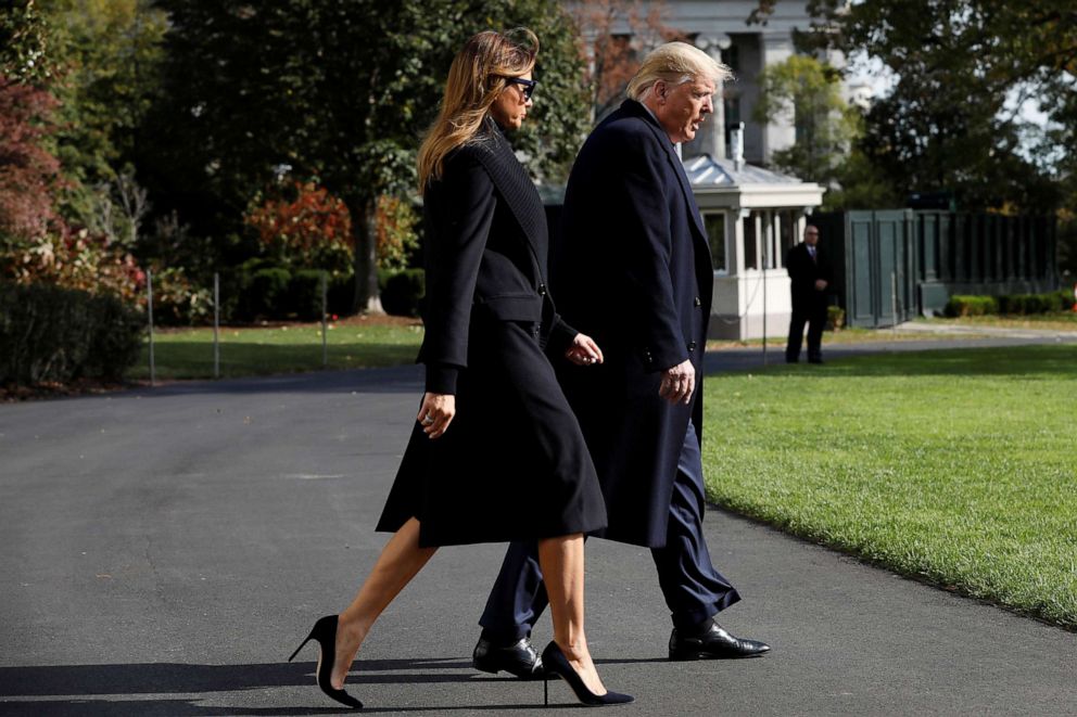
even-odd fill
[[[117,381],[138,360],[144,325],[114,296],[0,281],[0,383]]]

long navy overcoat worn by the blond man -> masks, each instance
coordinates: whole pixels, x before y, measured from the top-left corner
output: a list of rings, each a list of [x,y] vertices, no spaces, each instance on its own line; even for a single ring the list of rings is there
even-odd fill
[[[584,143],[569,178],[550,281],[565,320],[601,347],[596,368],[558,367],[606,498],[598,535],[666,543],[688,421],[702,436],[710,249],[674,145],[629,100]],[[696,367],[688,405],[659,397],[662,372]]]

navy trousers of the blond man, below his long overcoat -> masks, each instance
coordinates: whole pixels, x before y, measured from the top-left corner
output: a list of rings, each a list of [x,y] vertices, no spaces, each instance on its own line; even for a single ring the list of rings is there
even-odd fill
[[[650,551],[674,627],[692,627],[740,600],[710,562],[702,535],[705,500],[699,444],[695,427],[688,423],[670,501],[666,546]],[[538,545],[509,543],[479,619],[482,635],[495,643],[527,637],[548,604],[538,567]]]

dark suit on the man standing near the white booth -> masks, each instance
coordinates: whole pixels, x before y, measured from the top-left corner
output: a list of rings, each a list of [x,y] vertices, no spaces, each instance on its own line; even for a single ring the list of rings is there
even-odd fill
[[[793,298],[793,317],[789,319],[789,338],[785,345],[785,359],[800,359],[800,342],[804,335],[804,324],[808,324],[808,360],[819,361],[823,358],[823,327],[826,325],[826,302],[831,284],[834,283],[834,270],[829,257],[818,243],[815,258],[808,252],[808,244],[797,244],[785,257],[785,268],[789,272]],[[815,281],[822,279],[826,289],[815,289]]]

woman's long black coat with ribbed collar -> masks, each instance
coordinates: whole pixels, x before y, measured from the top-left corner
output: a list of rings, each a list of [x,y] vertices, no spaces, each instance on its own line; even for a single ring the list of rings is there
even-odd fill
[[[431,440],[416,423],[379,530],[409,517],[423,546],[530,540],[606,524],[594,464],[557,384],[575,332],[546,290],[542,202],[487,120],[423,196],[427,390],[456,417]]]

